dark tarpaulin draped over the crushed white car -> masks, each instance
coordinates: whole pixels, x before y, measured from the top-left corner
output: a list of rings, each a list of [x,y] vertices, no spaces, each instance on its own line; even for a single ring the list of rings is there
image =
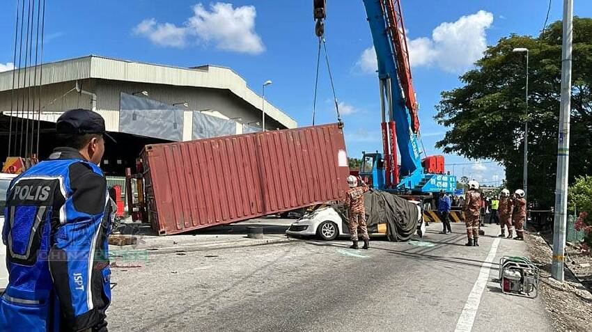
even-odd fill
[[[364,207],[368,226],[384,222],[389,225],[389,241],[407,241],[417,230],[417,206],[405,198],[371,189],[364,193]]]

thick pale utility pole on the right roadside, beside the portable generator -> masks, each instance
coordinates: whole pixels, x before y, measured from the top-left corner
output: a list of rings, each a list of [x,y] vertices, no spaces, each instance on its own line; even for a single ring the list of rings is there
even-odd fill
[[[557,180],[555,184],[555,223],[551,276],[563,281],[566,224],[568,208],[568,174],[571,112],[573,0],[563,0],[563,47],[561,52],[561,106],[559,108],[559,142],[557,143]]]

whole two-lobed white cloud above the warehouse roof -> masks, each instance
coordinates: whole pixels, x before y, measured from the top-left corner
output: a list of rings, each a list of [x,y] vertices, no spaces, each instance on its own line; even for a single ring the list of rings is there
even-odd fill
[[[260,54],[265,46],[255,31],[254,6],[234,8],[231,3],[213,3],[205,8],[198,3],[192,8],[193,16],[182,26],[172,23],[157,23],[144,19],[133,32],[143,35],[156,45],[185,47],[189,38],[196,43],[212,42],[226,51]]]

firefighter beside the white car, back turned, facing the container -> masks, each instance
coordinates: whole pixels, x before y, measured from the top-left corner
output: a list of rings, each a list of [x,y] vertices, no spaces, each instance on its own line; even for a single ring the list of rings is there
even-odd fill
[[[352,246],[350,248],[358,248],[358,227],[361,230],[361,238],[364,240],[362,248],[370,248],[370,237],[368,237],[368,227],[366,226],[366,210],[364,209],[364,193],[368,191],[368,186],[359,178],[361,184],[358,187],[358,178],[354,175],[348,176],[348,186],[350,189],[345,193],[345,206],[348,207],[350,219],[350,235],[352,239]]]

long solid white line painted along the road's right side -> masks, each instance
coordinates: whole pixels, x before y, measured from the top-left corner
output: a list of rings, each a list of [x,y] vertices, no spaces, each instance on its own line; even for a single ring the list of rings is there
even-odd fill
[[[493,262],[495,254],[497,253],[497,246],[499,246],[499,238],[494,239],[489,254],[487,255],[487,258],[485,258],[483,265],[481,265],[479,276],[477,277],[473,289],[469,294],[469,298],[465,303],[465,308],[462,308],[462,313],[460,313],[460,317],[458,317],[456,329],[454,330],[455,332],[469,332],[473,329],[475,316],[477,315],[479,303],[481,302],[481,295],[483,295],[483,290],[485,290],[485,285],[487,285],[489,279],[491,262]]]

